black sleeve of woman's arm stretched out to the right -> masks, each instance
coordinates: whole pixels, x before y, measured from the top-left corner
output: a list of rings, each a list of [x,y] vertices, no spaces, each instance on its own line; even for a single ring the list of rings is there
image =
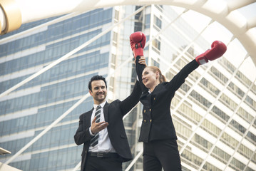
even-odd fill
[[[185,78],[187,78],[190,73],[192,73],[196,68],[198,68],[198,66],[199,65],[197,61],[195,61],[195,59],[188,63],[168,83],[168,88],[170,88],[173,92],[178,90],[178,88],[180,88],[180,86],[185,82]]]

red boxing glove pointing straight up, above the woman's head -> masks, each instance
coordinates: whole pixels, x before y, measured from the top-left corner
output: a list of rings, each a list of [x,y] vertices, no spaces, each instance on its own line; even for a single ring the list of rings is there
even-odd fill
[[[130,47],[133,51],[134,58],[144,56],[143,48],[145,47],[145,39],[145,34],[141,31],[130,34]]]

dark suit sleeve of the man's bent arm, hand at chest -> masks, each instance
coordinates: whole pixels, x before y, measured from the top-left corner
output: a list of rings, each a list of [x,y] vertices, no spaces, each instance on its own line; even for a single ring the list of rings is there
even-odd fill
[[[84,130],[84,123],[83,123],[83,117],[84,115],[80,115],[79,117],[79,126],[78,129],[76,130],[76,134],[74,135],[74,140],[76,142],[76,145],[81,145],[85,142],[87,142],[88,140],[91,140],[91,135],[89,132],[90,128],[87,128],[86,130]]]

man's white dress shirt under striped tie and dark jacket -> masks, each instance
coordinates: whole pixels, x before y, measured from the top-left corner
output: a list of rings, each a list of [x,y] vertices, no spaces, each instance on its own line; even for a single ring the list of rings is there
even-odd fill
[[[103,107],[106,104],[106,101],[104,101],[103,103],[101,103],[101,117],[100,117],[100,121],[105,121],[104,118],[104,114],[103,114]],[[95,117],[95,113],[96,113],[96,108],[98,105],[93,104],[93,113],[91,114],[91,123],[93,123],[93,119]],[[93,133],[91,133],[91,127],[89,129],[90,134],[93,136]],[[105,128],[103,130],[101,130],[98,133],[98,144],[95,145],[94,147],[92,147],[90,145],[89,147],[89,152],[116,152],[116,150],[113,148],[112,144],[111,144],[111,140],[108,137],[108,129]]]

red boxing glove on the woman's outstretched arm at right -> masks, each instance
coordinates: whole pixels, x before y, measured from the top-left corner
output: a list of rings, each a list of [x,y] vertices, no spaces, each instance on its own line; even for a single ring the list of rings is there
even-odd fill
[[[220,56],[222,56],[225,51],[227,51],[227,46],[225,46],[225,44],[221,41],[214,41],[211,47],[212,48],[205,51],[205,53],[195,57],[195,61],[197,61],[199,65],[208,63],[208,60],[213,61],[217,58],[220,58]]]

